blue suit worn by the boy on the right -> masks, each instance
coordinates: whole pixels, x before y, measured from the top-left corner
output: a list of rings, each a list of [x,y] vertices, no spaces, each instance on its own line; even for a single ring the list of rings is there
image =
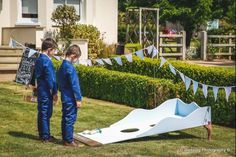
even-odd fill
[[[76,101],[81,101],[82,96],[78,75],[70,61],[63,61],[59,69],[58,79],[62,101],[62,139],[71,143],[77,118]]]

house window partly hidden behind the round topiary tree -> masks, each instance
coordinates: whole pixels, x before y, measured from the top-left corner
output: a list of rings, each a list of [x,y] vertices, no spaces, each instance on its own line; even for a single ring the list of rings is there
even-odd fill
[[[74,6],[76,14],[80,16],[80,0],[54,0],[54,9],[63,4]]]

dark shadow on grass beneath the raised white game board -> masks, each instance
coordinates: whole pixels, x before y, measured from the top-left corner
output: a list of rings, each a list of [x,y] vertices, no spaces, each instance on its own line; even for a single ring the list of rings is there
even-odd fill
[[[158,140],[182,140],[182,139],[202,139],[202,137],[194,136],[185,132],[175,131],[170,133],[159,134],[155,136],[148,136],[118,143],[140,142],[140,141],[158,141]],[[207,138],[206,138],[207,140]]]

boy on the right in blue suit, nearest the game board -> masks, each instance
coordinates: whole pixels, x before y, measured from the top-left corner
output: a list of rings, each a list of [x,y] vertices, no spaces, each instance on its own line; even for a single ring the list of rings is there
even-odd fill
[[[59,69],[59,87],[62,102],[62,139],[65,146],[79,147],[74,142],[74,124],[77,118],[77,108],[81,106],[79,78],[73,66],[81,56],[79,46],[72,45],[66,51],[66,58]]]

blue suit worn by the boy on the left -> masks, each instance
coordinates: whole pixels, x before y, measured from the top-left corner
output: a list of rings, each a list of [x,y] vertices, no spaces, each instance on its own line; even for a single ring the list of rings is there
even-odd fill
[[[38,132],[39,138],[50,138],[50,118],[53,110],[53,95],[57,94],[56,74],[52,61],[40,54],[35,64],[38,92]]]

